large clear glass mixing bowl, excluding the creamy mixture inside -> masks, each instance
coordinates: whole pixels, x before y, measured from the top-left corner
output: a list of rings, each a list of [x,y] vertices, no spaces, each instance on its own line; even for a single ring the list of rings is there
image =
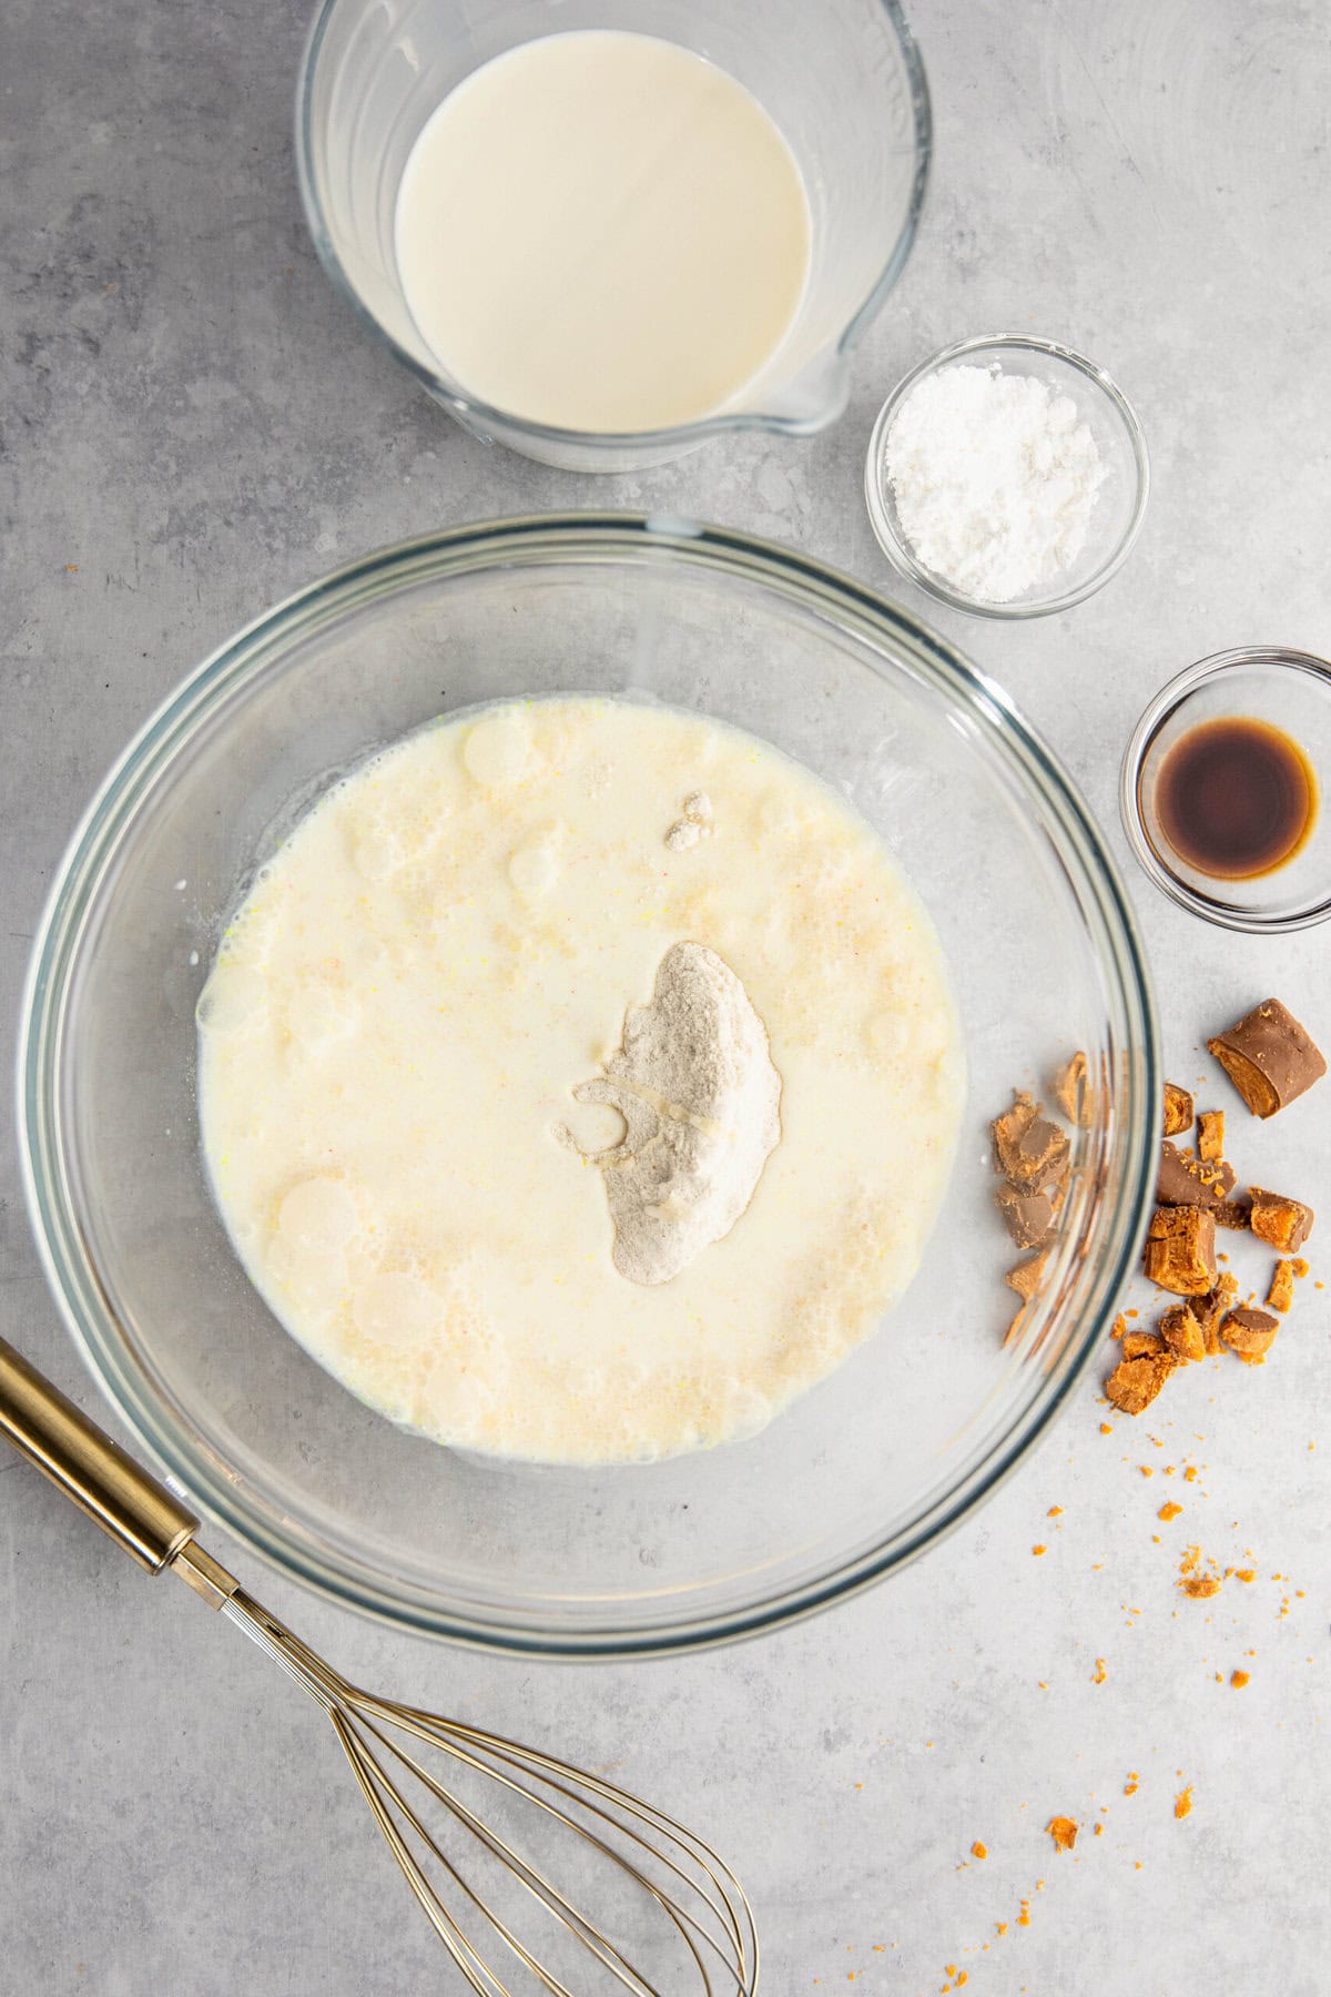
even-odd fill
[[[443,1450],[269,1316],[204,1176],[194,1008],[227,913],[307,805],[441,711],[666,701],[776,743],[878,827],[950,961],[970,1066],[950,1192],[884,1328],[760,1434],[668,1462]],[[988,1120],[1084,1048],[1094,1114],[1046,1282]],[[1159,1142],[1151,1000],[1086,807],[1008,697],[804,555],[587,513],[369,555],[223,645],[120,759],[60,869],[22,1036],[28,1196],[106,1394],[208,1514],[339,1602],[503,1650],[617,1656],[808,1614],[956,1526],[1068,1398],[1131,1268]],[[884,1130],[910,1146],[910,1130]]]

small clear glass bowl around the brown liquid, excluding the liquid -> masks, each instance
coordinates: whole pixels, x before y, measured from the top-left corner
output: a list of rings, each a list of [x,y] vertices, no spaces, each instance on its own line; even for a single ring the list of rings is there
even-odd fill
[[[1163,837],[1153,807],[1159,767],[1181,735],[1221,715],[1269,721],[1293,737],[1325,793],[1331,781],[1331,665],[1279,645],[1217,651],[1161,687],[1131,733],[1119,785],[1127,841],[1161,895],[1221,929],[1279,933],[1325,923],[1331,915],[1331,819],[1321,797],[1297,853],[1249,881],[1221,881],[1189,867]]]

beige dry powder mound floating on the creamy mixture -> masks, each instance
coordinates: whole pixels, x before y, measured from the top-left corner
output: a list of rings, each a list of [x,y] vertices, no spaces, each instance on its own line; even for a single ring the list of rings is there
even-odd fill
[[[575,1088],[625,1118],[595,1154],[615,1222],[615,1268],[668,1282],[730,1232],[780,1140],[780,1074],[766,1026],[728,965],[700,943],[661,959],[651,1004],[631,1006],[605,1074]]]

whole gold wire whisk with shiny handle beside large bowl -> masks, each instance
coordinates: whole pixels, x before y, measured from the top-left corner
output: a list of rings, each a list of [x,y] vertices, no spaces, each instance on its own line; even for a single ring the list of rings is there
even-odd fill
[[[2,1338],[0,1434],[142,1568],[180,1574],[323,1707],[407,1885],[479,1997],[754,1997],[744,1889],[682,1823],[567,1761],[349,1685],[196,1544],[198,1518]],[[425,1753],[443,1757],[443,1773]],[[549,1857],[531,1855],[533,1835],[595,1877],[599,1919],[565,1897]],[[523,1915],[541,1919],[539,1945],[519,1937]]]

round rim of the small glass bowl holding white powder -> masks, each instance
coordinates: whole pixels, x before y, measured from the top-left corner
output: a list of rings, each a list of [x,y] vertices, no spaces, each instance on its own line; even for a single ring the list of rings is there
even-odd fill
[[[1137,471],[1137,497],[1131,509],[1131,519],[1117,541],[1113,551],[1102,561],[1092,575],[1086,577],[1076,589],[1066,589],[1058,597],[1030,597],[1022,603],[986,603],[982,597],[968,597],[960,589],[950,589],[938,575],[926,569],[912,551],[906,547],[904,539],[892,525],[892,511],[884,499],[882,491],[882,445],[886,441],[892,417],[910,395],[912,387],[926,375],[936,373],[940,367],[948,367],[952,361],[964,359],[970,353],[982,353],[996,347],[1022,347],[1028,353],[1050,353],[1054,359],[1068,361],[1088,377],[1117,409],[1123,429],[1127,431],[1127,441],[1131,445],[1131,457]],[[1121,387],[1113,375],[1106,373],[1104,367],[1088,359],[1086,353],[1078,353],[1076,347],[1066,347],[1058,339],[1038,339],[1034,333],[974,333],[970,339],[958,339],[950,347],[942,347],[932,353],[918,367],[896,383],[882,409],[878,411],[878,421],[874,423],[874,433],[868,439],[868,455],[864,457],[864,503],[868,505],[868,519],[878,537],[878,545],[884,555],[920,589],[926,589],[940,603],[948,603],[954,611],[968,611],[972,617],[1050,617],[1054,611],[1070,611],[1074,603],[1086,603],[1094,597],[1098,589],[1109,581],[1111,575],[1123,567],[1133,551],[1137,535],[1141,533],[1141,521],[1145,519],[1145,501],[1151,495],[1151,459],[1145,447],[1145,431],[1137,421],[1137,411],[1123,395]]]

